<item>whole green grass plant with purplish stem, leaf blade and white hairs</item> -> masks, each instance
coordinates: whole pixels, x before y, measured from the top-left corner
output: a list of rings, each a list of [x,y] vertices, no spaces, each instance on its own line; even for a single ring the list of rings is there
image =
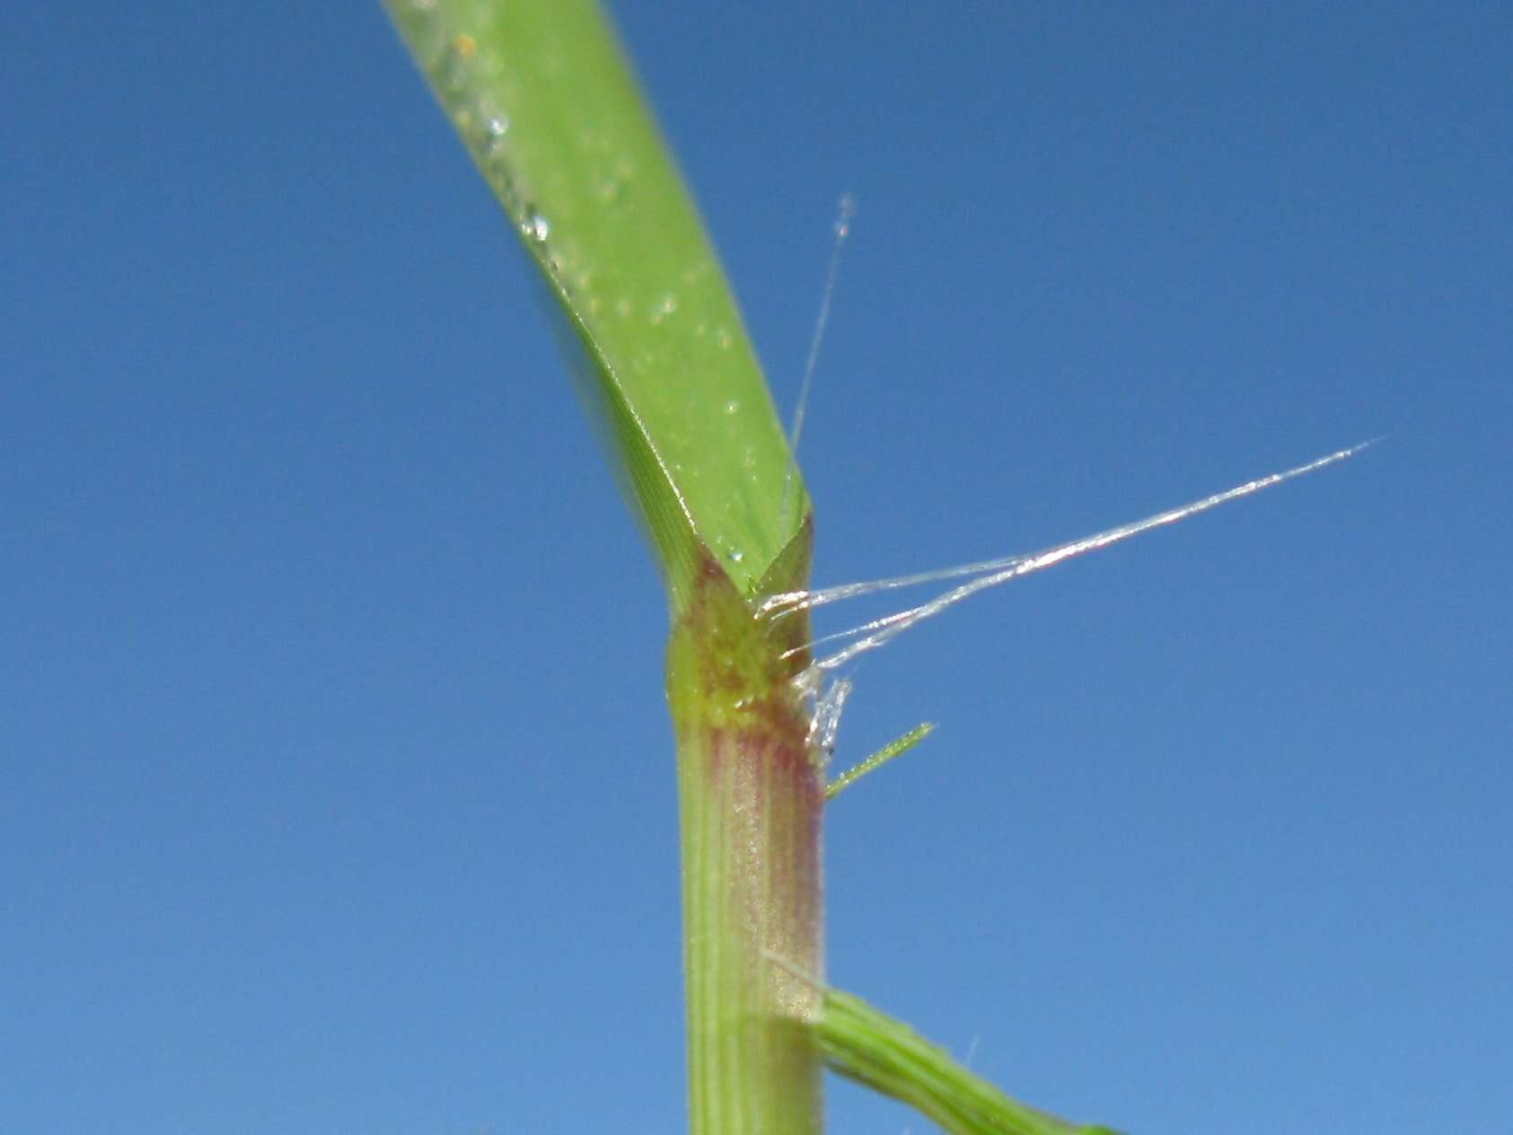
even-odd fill
[[[1104,1130],[1011,1100],[826,985],[825,804],[930,728],[828,782],[849,689],[837,670],[982,587],[1354,451],[1038,555],[809,592],[814,521],[788,437],[697,212],[595,0],[386,6],[570,328],[570,369],[667,595],[690,1129],[817,1135],[828,1065],[950,1132]],[[953,575],[970,578],[859,628],[828,658],[811,657],[812,605]]]

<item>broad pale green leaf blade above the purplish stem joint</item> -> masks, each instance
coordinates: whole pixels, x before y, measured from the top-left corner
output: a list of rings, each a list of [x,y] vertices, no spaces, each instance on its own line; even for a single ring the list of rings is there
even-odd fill
[[[752,595],[808,512],[740,312],[592,0],[386,0],[576,330],[584,401],[679,605]]]

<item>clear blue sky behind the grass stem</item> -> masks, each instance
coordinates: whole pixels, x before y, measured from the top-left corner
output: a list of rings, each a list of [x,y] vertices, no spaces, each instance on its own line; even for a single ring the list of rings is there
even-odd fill
[[[831,978],[1136,1135],[1508,1130],[1510,8],[616,12],[785,406],[859,200],[817,581],[1390,434],[858,667],[840,761],[941,726]],[[661,596],[383,14],[0,35],[0,1130],[678,1130]]]

